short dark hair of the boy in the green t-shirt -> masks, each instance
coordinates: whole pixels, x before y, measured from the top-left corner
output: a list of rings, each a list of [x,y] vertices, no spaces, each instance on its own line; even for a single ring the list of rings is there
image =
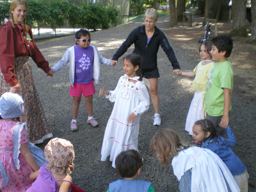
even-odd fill
[[[219,53],[221,51],[226,51],[224,56],[226,58],[230,56],[233,49],[233,39],[229,35],[218,35],[214,37],[211,42],[212,45],[217,47]]]

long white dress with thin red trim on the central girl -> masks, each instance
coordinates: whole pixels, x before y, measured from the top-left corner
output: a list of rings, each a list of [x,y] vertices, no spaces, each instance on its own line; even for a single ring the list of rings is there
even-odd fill
[[[115,104],[105,129],[101,161],[110,156],[112,166],[115,167],[115,159],[119,153],[126,150],[138,151],[140,116],[148,110],[150,96],[143,81],[133,83],[124,75],[120,77],[116,89],[110,91],[106,98]],[[128,122],[132,113],[137,116],[133,122]]]

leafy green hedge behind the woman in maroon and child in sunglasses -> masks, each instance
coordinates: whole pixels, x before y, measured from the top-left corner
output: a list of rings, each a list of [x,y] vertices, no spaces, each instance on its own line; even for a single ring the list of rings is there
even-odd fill
[[[85,3],[79,7],[67,0],[27,0],[27,3],[26,24],[31,28],[36,23],[46,23],[56,31],[57,27],[64,25],[65,20],[69,20],[72,28],[86,27],[93,30],[97,28],[108,29],[110,25],[115,26],[117,24],[118,11],[112,7],[87,6]],[[0,2],[0,24],[4,23],[5,17],[9,17],[9,9],[10,3],[8,1]]]

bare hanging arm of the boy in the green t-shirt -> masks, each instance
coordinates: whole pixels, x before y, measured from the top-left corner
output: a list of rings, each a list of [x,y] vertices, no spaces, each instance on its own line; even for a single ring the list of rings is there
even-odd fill
[[[229,107],[230,107],[230,99],[231,99],[231,90],[227,88],[223,88],[224,91],[224,109],[223,109],[223,116],[220,122],[220,127],[223,129],[227,128],[227,125],[229,123]]]

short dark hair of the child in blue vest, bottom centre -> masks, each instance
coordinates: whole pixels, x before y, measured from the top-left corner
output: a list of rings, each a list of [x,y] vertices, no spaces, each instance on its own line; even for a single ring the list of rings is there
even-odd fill
[[[116,157],[116,172],[123,178],[130,178],[136,175],[139,168],[142,167],[142,157],[135,150],[121,152]]]

